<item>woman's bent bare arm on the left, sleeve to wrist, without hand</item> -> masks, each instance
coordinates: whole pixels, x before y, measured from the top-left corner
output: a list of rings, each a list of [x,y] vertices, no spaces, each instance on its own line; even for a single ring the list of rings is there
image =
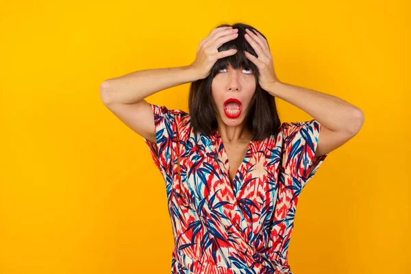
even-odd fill
[[[155,142],[154,117],[145,97],[155,92],[194,82],[197,73],[192,66],[148,69],[108,79],[100,86],[101,101],[134,132]]]

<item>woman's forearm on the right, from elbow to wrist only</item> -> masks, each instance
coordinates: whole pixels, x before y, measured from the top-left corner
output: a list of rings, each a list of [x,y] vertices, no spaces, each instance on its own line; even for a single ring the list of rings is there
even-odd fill
[[[360,108],[333,95],[282,82],[275,82],[267,92],[304,110],[333,131],[356,133],[364,123]]]

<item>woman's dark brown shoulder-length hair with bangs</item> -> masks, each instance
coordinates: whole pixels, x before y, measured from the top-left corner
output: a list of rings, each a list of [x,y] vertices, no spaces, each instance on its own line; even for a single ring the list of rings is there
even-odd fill
[[[218,27],[226,26],[228,27],[230,25],[223,24]],[[199,132],[207,136],[214,134],[214,130],[217,129],[218,123],[216,119],[216,107],[212,101],[211,84],[214,76],[219,73],[221,69],[226,69],[228,64],[231,64],[234,69],[250,68],[254,71],[254,76],[256,78],[256,92],[251,98],[251,108],[249,115],[245,119],[247,119],[246,125],[248,129],[253,134],[252,140],[264,140],[271,136],[271,134],[277,134],[279,127],[281,127],[281,121],[279,120],[279,115],[277,113],[275,97],[260,87],[258,84],[258,76],[260,75],[258,68],[256,64],[249,61],[244,54],[244,51],[248,51],[252,55],[258,57],[253,47],[251,47],[244,38],[246,28],[251,30],[251,32],[252,29],[256,28],[244,23],[235,23],[232,27],[233,29],[238,29],[237,38],[225,42],[219,47],[218,51],[237,49],[236,54],[220,58],[212,67],[208,77],[199,79],[190,84],[188,109],[190,112],[191,127],[196,133]],[[258,31],[258,29],[256,30]],[[263,34],[261,35],[265,38]]]

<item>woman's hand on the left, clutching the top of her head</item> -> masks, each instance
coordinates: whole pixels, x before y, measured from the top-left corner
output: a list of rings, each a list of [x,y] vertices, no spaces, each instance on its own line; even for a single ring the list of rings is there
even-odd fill
[[[206,38],[200,41],[200,45],[196,52],[195,61],[190,64],[192,69],[197,72],[199,79],[204,79],[210,75],[212,66],[220,58],[236,54],[236,49],[227,51],[218,51],[219,47],[229,40],[233,40],[238,36],[238,29],[229,27],[217,27],[208,34]]]

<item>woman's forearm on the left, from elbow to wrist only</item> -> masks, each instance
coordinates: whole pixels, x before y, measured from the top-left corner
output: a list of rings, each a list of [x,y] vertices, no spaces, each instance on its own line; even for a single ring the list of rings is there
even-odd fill
[[[191,66],[135,71],[105,80],[100,86],[103,103],[136,103],[155,92],[199,79]]]

